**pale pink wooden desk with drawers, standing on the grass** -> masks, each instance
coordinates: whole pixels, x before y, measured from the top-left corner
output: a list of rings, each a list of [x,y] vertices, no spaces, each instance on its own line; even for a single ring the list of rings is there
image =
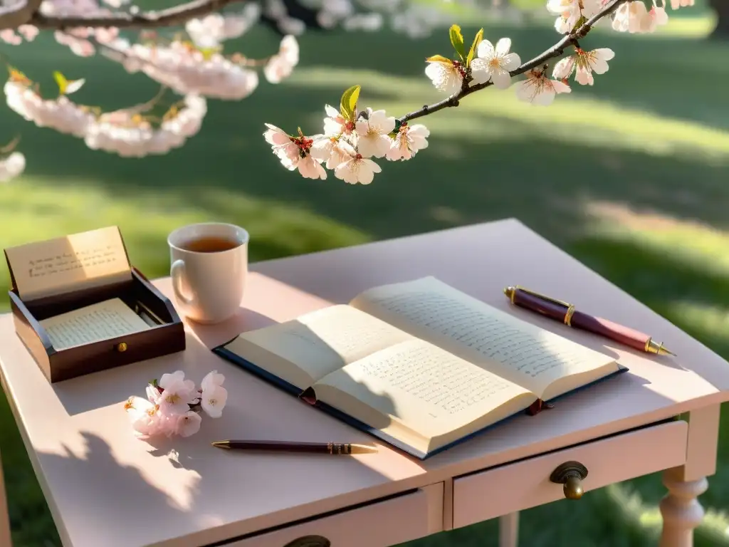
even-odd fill
[[[239,316],[217,328],[188,327],[186,352],[61,384],[47,383],[11,317],[0,317],[4,389],[64,546],[284,547],[321,535],[334,547],[379,547],[504,515],[503,544],[512,545],[519,510],[563,497],[549,475],[569,460],[588,468],[585,491],[668,470],[662,546],[691,546],[702,516],[695,497],[715,471],[729,364],[521,223],[273,260],[252,271]],[[235,436],[372,441],[207,347],[240,330],[346,302],[368,287],[425,275],[615,354],[631,372],[426,462],[384,446],[378,454],[338,459],[231,454],[209,446]],[[640,327],[680,357],[647,357],[512,309],[502,294],[509,284]],[[169,293],[166,279],[158,285]],[[132,438],[122,402],[176,369],[196,381],[211,369],[224,373],[227,408],[198,435],[155,449]],[[685,412],[688,422],[661,422]],[[179,463],[165,455],[170,449]]]

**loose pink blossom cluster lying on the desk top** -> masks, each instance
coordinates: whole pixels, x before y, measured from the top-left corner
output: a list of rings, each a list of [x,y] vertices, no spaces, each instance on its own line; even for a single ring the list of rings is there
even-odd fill
[[[203,378],[200,389],[195,382],[185,379],[183,371],[153,380],[147,385],[147,398],[135,395],[124,403],[135,435],[142,439],[195,435],[203,422],[201,412],[211,418],[222,416],[227,402],[224,381],[225,376],[217,371]]]

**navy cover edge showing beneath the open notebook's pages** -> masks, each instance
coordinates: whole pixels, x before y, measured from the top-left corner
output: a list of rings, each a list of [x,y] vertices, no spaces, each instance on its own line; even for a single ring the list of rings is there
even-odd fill
[[[302,395],[305,394],[306,390],[302,391],[300,388],[289,384],[289,382],[282,380],[278,376],[271,374],[268,371],[265,371],[264,369],[260,368],[259,366],[255,365],[254,363],[250,362],[249,360],[243,359],[238,354],[235,354],[231,352],[229,349],[226,349],[225,346],[227,344],[230,344],[230,340],[225,342],[225,344],[221,344],[220,346],[216,346],[212,349],[212,351],[219,355],[220,357],[224,358],[225,360],[228,360],[230,362],[233,362],[233,364],[240,366],[241,368],[244,368],[246,371],[249,371],[250,373],[253,373],[254,375],[258,376],[259,378],[268,381],[270,384],[273,384],[276,387],[279,387],[280,389],[284,389],[284,391],[289,392],[292,395],[295,395],[296,397],[299,397],[305,402],[310,403],[310,400],[308,400],[308,397],[302,397]],[[617,376],[618,374],[624,373],[628,371],[628,368],[623,367],[623,365],[618,365],[620,367],[619,370],[615,371],[612,374],[609,374],[608,376],[604,376],[599,380],[590,382],[590,384],[585,384],[584,386],[578,387],[577,389],[573,389],[571,392],[565,393],[564,395],[560,395],[559,397],[555,397],[555,399],[552,399],[548,401],[549,403],[554,403],[554,401],[561,399],[562,397],[566,397],[566,395],[571,395],[572,393],[578,392],[582,389],[585,389],[586,387],[590,387],[594,384],[599,384],[601,381],[607,380],[609,378],[612,378],[613,376]],[[399,439],[396,439],[394,437],[391,437],[390,435],[387,435],[386,433],[382,432],[381,430],[375,429],[374,427],[370,427],[367,424],[364,424],[363,422],[360,422],[358,419],[353,418],[352,416],[349,416],[348,414],[345,414],[344,412],[338,410],[337,408],[334,408],[330,405],[327,405],[326,403],[322,403],[321,401],[316,401],[312,404],[312,406],[315,406],[316,408],[319,408],[321,411],[326,412],[330,416],[341,420],[342,422],[351,425],[352,427],[355,427],[356,429],[360,431],[364,431],[366,433],[369,433],[370,435],[373,435],[374,437],[380,439],[381,441],[388,443],[392,446],[394,446],[397,449],[400,449],[411,456],[414,456],[418,459],[427,459],[429,457],[432,457],[434,454],[438,454],[439,452],[444,451],[445,449],[451,448],[451,446],[454,446],[456,444],[462,443],[464,441],[467,441],[470,438],[475,437],[476,435],[481,435],[486,430],[491,429],[491,427],[494,427],[495,425],[502,424],[506,422],[507,420],[512,419],[515,416],[519,416],[521,414],[524,414],[525,411],[518,411],[516,414],[512,414],[512,416],[502,419],[499,422],[496,422],[495,424],[488,425],[487,427],[484,427],[481,430],[472,432],[469,435],[466,435],[464,437],[459,438],[456,441],[453,441],[452,443],[449,443],[444,446],[440,446],[437,449],[434,449],[429,452],[423,452],[417,449],[414,449],[412,446],[409,446],[406,443],[403,443],[402,441],[399,441]],[[538,414],[537,414],[538,416]],[[537,416],[533,416],[534,419],[537,419]]]

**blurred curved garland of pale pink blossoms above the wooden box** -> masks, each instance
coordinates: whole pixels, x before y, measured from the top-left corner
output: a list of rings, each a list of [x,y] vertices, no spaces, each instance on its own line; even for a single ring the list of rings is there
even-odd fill
[[[122,157],[140,158],[149,154],[165,154],[181,147],[187,139],[200,131],[207,113],[206,100],[187,95],[179,105],[165,112],[162,120],[147,115],[150,104],[139,105],[114,112],[79,105],[69,94],[79,90],[85,80],[69,81],[55,73],[59,96],[43,98],[37,85],[25,74],[11,71],[4,91],[10,109],[39,127],[55,129],[84,139],[92,150],[114,152]],[[155,123],[156,122],[156,123]]]

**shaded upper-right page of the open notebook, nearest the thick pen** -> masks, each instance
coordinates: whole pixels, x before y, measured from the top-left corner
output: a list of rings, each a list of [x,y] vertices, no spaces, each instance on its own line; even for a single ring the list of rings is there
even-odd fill
[[[537,393],[613,362],[432,277],[367,290],[352,306]]]

